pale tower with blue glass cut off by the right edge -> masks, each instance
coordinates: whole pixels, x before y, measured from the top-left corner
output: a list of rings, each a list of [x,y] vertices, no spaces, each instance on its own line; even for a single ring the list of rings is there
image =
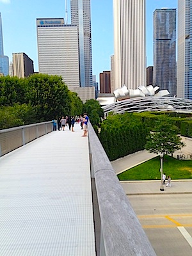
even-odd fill
[[[192,99],[192,1],[178,1],[177,97]]]

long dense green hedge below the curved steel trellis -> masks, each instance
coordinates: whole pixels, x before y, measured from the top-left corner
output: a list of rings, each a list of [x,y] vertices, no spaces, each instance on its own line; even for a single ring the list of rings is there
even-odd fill
[[[192,116],[182,113],[124,113],[108,116],[100,127],[99,139],[109,160],[113,161],[145,148],[149,131],[155,131],[159,118],[172,118],[182,136],[192,138]]]

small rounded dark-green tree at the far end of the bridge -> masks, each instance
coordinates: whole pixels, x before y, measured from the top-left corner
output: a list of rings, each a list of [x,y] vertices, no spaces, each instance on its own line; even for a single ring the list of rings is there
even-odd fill
[[[100,118],[104,117],[104,111],[97,100],[86,100],[83,104],[83,113],[87,113],[92,125],[99,125]]]

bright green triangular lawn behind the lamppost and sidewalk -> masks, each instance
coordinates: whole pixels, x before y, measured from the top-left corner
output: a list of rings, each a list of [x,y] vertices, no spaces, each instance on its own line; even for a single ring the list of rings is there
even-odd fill
[[[159,156],[135,166],[118,176],[119,180],[156,180],[161,179]],[[172,179],[192,179],[192,160],[177,160],[164,156],[163,173]]]

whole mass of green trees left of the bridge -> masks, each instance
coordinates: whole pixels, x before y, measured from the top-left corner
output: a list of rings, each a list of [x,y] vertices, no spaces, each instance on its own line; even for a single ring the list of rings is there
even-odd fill
[[[81,115],[83,103],[60,76],[0,77],[0,129]]]

